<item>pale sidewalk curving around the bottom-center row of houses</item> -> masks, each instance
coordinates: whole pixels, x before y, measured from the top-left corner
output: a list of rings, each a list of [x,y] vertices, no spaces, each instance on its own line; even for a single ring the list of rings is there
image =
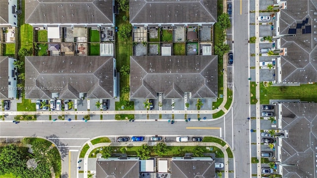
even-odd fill
[[[159,143],[159,142],[148,142],[149,143]],[[90,146],[90,148],[87,150],[85,157],[84,157],[84,178],[87,178],[88,171],[95,171],[95,170],[88,170],[88,158],[95,148],[104,147],[104,146],[126,146],[126,142],[115,142],[115,143],[98,143],[93,145],[90,141],[87,142],[87,144]],[[133,146],[141,146],[145,144],[144,142],[133,142]],[[165,142],[167,146],[216,146],[218,147],[224,155],[224,178],[229,178],[229,159],[228,159],[228,153],[226,149],[229,147],[228,144],[221,146],[218,143],[214,142]],[[130,146],[130,142],[129,142]],[[152,145],[151,145],[152,146]],[[81,150],[80,150],[81,151]],[[231,150],[232,151],[232,150]],[[78,155],[79,156],[79,155]],[[77,162],[79,161],[79,157],[77,158]],[[78,167],[78,164],[77,164]],[[78,172],[77,172],[77,178],[78,178]]]

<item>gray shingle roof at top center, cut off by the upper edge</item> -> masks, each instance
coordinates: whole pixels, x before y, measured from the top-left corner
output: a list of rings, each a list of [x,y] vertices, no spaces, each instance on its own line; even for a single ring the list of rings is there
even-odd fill
[[[214,23],[217,0],[130,0],[130,23]]]

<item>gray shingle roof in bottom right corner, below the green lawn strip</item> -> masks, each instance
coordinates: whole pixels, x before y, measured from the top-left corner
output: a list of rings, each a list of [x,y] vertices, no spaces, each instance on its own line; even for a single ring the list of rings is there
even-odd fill
[[[293,174],[301,178],[316,178],[317,153],[317,104],[283,103],[282,130],[288,130],[288,138],[282,139],[281,164],[283,177]]]

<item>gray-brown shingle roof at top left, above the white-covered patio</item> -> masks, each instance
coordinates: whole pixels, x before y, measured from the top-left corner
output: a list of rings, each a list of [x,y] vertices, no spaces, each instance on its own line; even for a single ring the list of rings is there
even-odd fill
[[[25,23],[113,24],[112,0],[26,0]]]

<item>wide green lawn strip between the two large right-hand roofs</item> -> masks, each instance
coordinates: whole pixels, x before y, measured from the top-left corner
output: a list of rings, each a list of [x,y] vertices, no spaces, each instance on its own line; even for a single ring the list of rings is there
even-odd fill
[[[300,99],[317,102],[317,84],[302,84],[298,87],[264,87],[260,84],[260,103],[269,104],[269,99]]]

